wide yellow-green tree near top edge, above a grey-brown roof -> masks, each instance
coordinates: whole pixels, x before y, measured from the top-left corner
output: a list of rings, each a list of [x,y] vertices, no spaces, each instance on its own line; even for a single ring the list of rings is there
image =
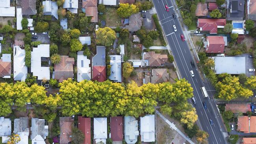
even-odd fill
[[[132,14],[139,12],[139,8],[134,4],[120,4],[117,9],[117,15],[122,18],[128,18]]]

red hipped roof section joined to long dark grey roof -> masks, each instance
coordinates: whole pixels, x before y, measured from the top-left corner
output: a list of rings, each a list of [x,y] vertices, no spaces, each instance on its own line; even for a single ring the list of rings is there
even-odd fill
[[[106,66],[93,66],[93,81],[103,82],[107,80]]]

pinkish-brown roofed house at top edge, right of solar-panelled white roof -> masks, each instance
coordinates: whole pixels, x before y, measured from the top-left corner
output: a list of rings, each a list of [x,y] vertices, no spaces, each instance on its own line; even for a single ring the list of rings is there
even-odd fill
[[[97,0],[83,0],[82,8],[85,9],[85,16],[91,17],[91,22],[98,22]]]

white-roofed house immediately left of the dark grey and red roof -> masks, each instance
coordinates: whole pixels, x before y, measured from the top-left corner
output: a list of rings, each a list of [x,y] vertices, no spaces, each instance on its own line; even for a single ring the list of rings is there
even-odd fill
[[[85,79],[91,80],[91,61],[87,59],[87,56],[83,55],[83,51],[77,52],[77,76],[76,79],[78,82],[83,81]]]

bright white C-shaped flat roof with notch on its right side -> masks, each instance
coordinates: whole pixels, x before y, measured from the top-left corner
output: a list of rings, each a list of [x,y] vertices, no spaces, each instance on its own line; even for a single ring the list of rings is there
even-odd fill
[[[37,79],[50,79],[50,68],[41,67],[41,57],[50,57],[50,44],[40,44],[31,52],[31,72]]]

